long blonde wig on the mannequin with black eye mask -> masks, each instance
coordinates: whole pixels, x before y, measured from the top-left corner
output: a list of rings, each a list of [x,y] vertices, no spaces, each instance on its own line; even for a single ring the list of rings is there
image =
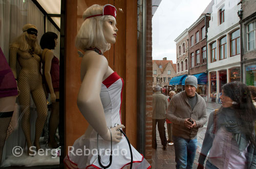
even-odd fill
[[[25,24],[22,28],[22,31],[23,33],[18,36],[13,42],[11,45],[18,45],[19,46],[19,49],[20,50],[23,50],[23,51],[29,51],[29,49],[32,47],[34,49],[34,52],[36,54],[40,54],[41,53],[41,48],[38,44],[38,41],[37,41],[37,38],[36,40],[33,41],[32,43],[32,46],[29,46],[28,44],[28,32],[27,30],[30,29],[30,28],[34,28],[37,30],[36,26],[33,25],[33,24]]]

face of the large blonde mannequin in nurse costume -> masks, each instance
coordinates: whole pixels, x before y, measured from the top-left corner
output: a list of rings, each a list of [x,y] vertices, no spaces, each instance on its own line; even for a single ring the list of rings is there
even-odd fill
[[[118,29],[115,25],[115,21],[112,19],[104,21],[102,29],[106,42],[111,44],[116,43],[116,32],[118,31]]]

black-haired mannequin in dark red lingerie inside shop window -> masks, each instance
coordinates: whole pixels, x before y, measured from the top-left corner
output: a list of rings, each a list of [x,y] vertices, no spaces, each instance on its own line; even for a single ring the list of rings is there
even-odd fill
[[[42,50],[43,82],[47,92],[51,94],[52,110],[49,119],[48,146],[58,148],[55,133],[59,124],[59,60],[53,54],[52,49],[57,46],[58,36],[53,32],[42,35],[40,46]]]

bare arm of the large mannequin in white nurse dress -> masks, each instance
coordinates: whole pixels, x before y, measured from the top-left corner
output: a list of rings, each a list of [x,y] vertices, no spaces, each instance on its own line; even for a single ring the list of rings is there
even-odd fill
[[[105,73],[108,71],[108,61],[102,55],[90,52],[83,57],[81,69],[84,68],[86,74],[82,78],[82,84],[77,96],[77,106],[82,115],[94,130],[105,140],[110,140],[110,131],[106,126],[103,106],[100,100],[101,83]],[[84,72],[81,71],[81,74]],[[111,126],[109,126],[111,127]],[[121,132],[118,128],[124,128],[119,125],[111,129],[112,140],[120,142]]]

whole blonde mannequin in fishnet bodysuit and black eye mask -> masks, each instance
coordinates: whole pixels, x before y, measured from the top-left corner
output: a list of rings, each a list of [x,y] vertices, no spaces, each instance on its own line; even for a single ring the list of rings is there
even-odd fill
[[[29,32],[29,29],[34,29]],[[18,88],[20,90],[19,103],[22,111],[22,129],[26,137],[28,154],[32,146],[30,136],[30,94],[36,105],[37,119],[35,124],[34,146],[40,149],[39,138],[44,128],[47,117],[47,102],[44,89],[42,87],[42,76],[40,73],[40,57],[38,54],[41,49],[36,40],[37,30],[32,24],[23,26],[23,33],[10,45],[10,67],[14,77],[17,77],[16,63],[22,68],[17,78]],[[29,32],[29,33],[28,33]]]

